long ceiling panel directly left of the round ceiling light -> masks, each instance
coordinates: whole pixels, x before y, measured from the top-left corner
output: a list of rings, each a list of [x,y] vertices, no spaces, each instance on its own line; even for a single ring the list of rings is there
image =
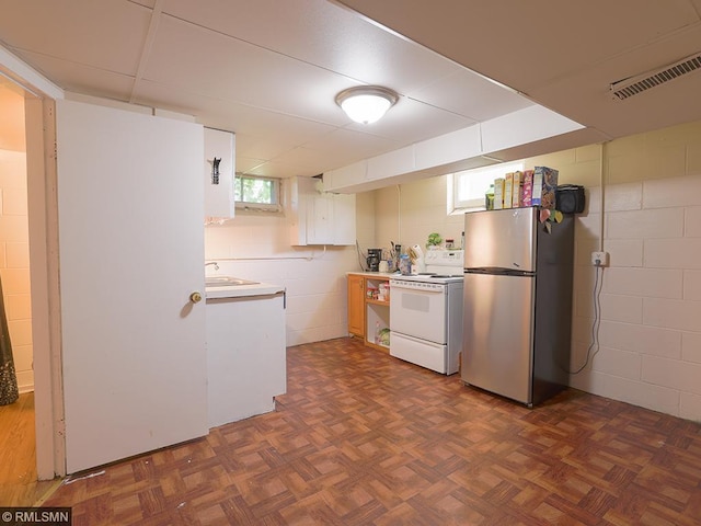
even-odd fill
[[[161,20],[143,78],[331,124],[343,123],[334,96],[349,83],[325,69],[171,16]]]

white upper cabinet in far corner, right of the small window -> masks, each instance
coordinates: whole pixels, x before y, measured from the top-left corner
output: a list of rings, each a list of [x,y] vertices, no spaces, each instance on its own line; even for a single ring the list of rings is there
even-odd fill
[[[355,244],[355,195],[323,191],[315,178],[289,179],[291,244]]]

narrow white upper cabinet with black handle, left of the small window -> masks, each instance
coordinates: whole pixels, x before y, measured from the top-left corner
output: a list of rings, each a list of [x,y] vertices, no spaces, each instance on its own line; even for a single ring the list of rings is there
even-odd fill
[[[231,132],[205,128],[205,216],[207,221],[234,214],[235,137]]]

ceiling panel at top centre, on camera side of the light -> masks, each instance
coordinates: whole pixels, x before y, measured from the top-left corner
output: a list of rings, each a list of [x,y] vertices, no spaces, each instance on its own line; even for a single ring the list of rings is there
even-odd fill
[[[327,0],[220,0],[204,4],[171,0],[164,11],[349,80],[388,85],[400,93],[421,89],[457,68]]]

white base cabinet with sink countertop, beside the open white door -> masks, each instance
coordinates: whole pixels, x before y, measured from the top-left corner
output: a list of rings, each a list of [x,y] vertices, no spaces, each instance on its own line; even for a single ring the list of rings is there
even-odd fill
[[[209,428],[273,411],[287,390],[284,290],[208,290],[206,333]]]

